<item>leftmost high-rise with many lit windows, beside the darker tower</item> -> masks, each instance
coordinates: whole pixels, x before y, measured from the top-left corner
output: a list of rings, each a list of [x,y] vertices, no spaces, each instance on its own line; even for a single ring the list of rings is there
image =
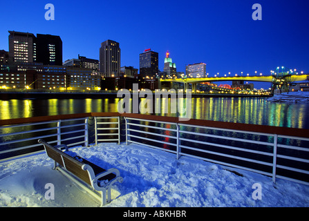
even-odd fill
[[[36,37],[28,32],[8,31],[9,56],[13,61],[33,62],[36,58]]]

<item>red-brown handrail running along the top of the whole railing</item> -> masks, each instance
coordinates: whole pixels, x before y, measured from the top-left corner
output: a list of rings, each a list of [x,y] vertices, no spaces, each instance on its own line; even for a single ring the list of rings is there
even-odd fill
[[[51,115],[40,117],[26,117],[15,119],[0,119],[0,126],[13,125],[13,124],[27,124],[35,122],[46,122],[59,119],[74,119],[79,117],[132,117],[137,119],[149,119],[157,122],[171,122],[174,124],[189,124],[196,126],[209,126],[210,128],[222,128],[235,131],[247,131],[254,133],[270,133],[277,135],[285,135],[292,137],[306,137],[309,138],[309,129],[305,128],[289,128],[281,126],[268,126],[259,124],[243,124],[234,122],[218,122],[206,119],[189,119],[189,121],[181,121],[178,117],[159,116],[159,115],[142,115],[137,113],[77,113],[67,115]]]

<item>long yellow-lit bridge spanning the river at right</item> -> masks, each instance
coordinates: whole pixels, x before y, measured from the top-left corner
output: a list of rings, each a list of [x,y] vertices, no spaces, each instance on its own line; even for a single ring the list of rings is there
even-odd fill
[[[270,82],[275,84],[277,79],[286,79],[290,77],[289,82],[293,81],[304,81],[309,77],[308,75],[268,75],[268,76],[234,76],[234,77],[204,77],[204,78],[173,78],[173,79],[160,79],[162,82],[178,82],[183,83],[185,90],[188,88],[189,84],[192,84],[192,90],[196,90],[196,84],[203,82],[214,82],[214,81],[261,81]]]

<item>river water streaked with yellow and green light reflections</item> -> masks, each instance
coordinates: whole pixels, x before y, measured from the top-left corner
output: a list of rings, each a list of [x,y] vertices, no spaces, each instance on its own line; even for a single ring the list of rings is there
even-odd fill
[[[64,115],[90,112],[118,112],[119,98],[105,99],[11,99],[0,101],[0,119]],[[170,99],[169,99],[170,102]],[[153,106],[161,103],[154,100]],[[174,104],[172,104],[174,105]],[[132,109],[132,105],[130,104]],[[169,113],[171,105],[168,106]],[[222,122],[309,128],[309,104],[266,102],[265,98],[196,97],[192,98],[191,113],[194,119]],[[161,111],[163,112],[163,111]],[[156,114],[178,116],[176,114]]]

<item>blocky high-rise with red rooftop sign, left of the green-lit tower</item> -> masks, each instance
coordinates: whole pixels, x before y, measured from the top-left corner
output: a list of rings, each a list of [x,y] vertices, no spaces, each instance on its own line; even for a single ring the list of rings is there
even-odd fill
[[[159,54],[150,48],[140,54],[140,75],[144,78],[158,77]]]

